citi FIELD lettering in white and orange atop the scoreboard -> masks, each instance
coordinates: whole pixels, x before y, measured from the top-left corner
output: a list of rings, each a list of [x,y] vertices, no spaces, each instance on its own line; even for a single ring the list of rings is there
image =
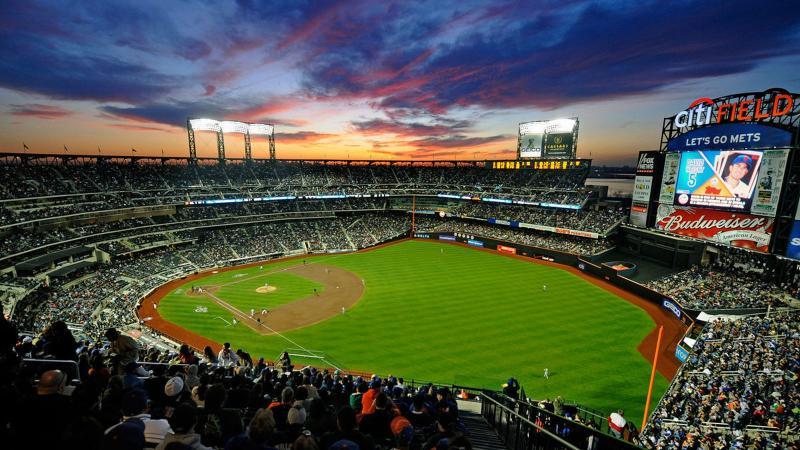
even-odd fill
[[[678,128],[689,128],[721,123],[759,122],[797,114],[797,100],[797,94],[791,94],[784,89],[764,91],[752,98],[738,99],[737,96],[728,96],[712,100],[701,97],[676,114],[673,123]]]

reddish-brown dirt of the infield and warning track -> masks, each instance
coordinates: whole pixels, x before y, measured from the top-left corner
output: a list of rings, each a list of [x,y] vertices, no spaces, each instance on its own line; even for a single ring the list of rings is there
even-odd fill
[[[381,247],[395,245],[407,240],[415,240],[415,239],[397,240],[377,245],[375,247],[370,247],[368,249],[359,250],[357,253],[372,251]],[[419,240],[427,241],[427,239],[419,239]],[[474,250],[499,254],[509,258],[521,259],[535,264],[543,264],[561,270],[566,270],[574,274],[575,276],[581,277],[582,279],[608,292],[611,292],[612,294],[618,297],[627,300],[628,302],[644,310],[656,323],[656,326],[653,328],[653,330],[651,330],[650,333],[647,336],[645,336],[644,340],[642,340],[642,342],[637,347],[639,353],[641,353],[641,355],[648,362],[652,362],[653,353],[655,352],[655,347],[656,347],[656,340],[658,338],[658,327],[663,326],[664,335],[662,336],[662,341],[661,341],[661,351],[659,352],[658,355],[658,372],[661,373],[663,376],[665,376],[667,379],[671,380],[677,373],[678,368],[680,368],[680,361],[678,361],[678,359],[674,355],[675,355],[675,347],[683,337],[685,327],[679,321],[675,320],[674,316],[672,316],[667,311],[664,311],[662,308],[660,308],[659,305],[656,305],[655,303],[652,303],[642,297],[639,297],[638,295],[632,294],[624,289],[621,289],[603,279],[582,272],[575,267],[570,267],[563,264],[544,261],[540,259],[533,259],[520,255],[500,253],[495,250],[490,250],[485,248],[471,247],[460,242],[452,242],[452,241],[437,241],[437,242],[448,245],[469,247]],[[290,259],[304,259],[307,257],[308,256],[301,255],[301,256],[294,256],[290,258],[281,259],[279,261],[286,261]],[[255,262],[255,263],[244,264],[241,266],[213,269],[213,271],[227,272],[230,270],[239,270],[247,267],[263,265],[265,263],[269,264],[269,262],[270,261]],[[329,269],[329,272],[326,272],[325,270],[326,268]],[[320,294],[320,296],[307,297],[305,299],[301,299],[296,302],[282,305],[278,308],[275,308],[274,310],[270,310],[270,312],[266,315],[266,319],[262,319],[262,321],[265,320],[267,326],[269,328],[272,328],[274,331],[279,331],[279,332],[287,331],[294,328],[308,326],[313,323],[325,320],[326,318],[331,317],[332,315],[338,314],[340,313],[342,306],[345,306],[345,308],[349,308],[350,306],[355,304],[361,297],[361,294],[364,289],[364,285],[361,279],[352,272],[348,272],[343,269],[338,269],[333,266],[326,266],[325,264],[320,264],[320,263],[312,263],[308,265],[301,264],[298,266],[294,266],[288,269],[287,271],[296,273],[297,275],[300,276],[307,277],[317,282],[321,282],[325,284],[326,288]],[[142,300],[142,304],[139,308],[139,317],[145,320],[145,323],[147,324],[148,327],[174,340],[186,343],[198,349],[202,349],[203,347],[208,345],[211,346],[211,348],[214,349],[215,351],[218,350],[219,348],[222,347],[221,343],[215,342],[211,339],[208,339],[183,327],[175,325],[172,322],[164,320],[158,314],[158,311],[155,308],[155,306],[158,305],[161,299],[163,299],[173,289],[182,286],[184,284],[199,280],[209,275],[211,272],[212,270],[208,270],[205,272],[189,275],[185,278],[170,281],[162,285],[161,287],[157,288],[152,294],[150,294],[144,300]],[[331,286],[329,283],[333,283],[333,285]],[[338,289],[336,288],[337,283],[339,283],[338,285],[340,286]],[[348,291],[350,291],[349,294]],[[326,297],[323,300],[322,297],[325,295],[330,295],[330,297]],[[241,315],[243,313],[244,312],[240,312],[239,314],[237,314],[237,316],[239,316],[248,326],[251,326],[254,329],[257,328],[258,327],[257,321],[250,319],[248,316],[242,317]],[[258,315],[258,317],[263,317],[263,316]],[[271,334],[273,331],[262,330],[261,332],[262,334]]]

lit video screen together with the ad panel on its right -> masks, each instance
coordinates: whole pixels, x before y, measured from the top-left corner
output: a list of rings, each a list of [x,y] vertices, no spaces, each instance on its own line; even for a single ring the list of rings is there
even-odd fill
[[[786,150],[681,152],[673,204],[774,216],[787,156]]]

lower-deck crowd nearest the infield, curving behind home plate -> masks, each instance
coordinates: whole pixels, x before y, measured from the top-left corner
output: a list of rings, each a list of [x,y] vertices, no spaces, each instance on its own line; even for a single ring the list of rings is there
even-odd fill
[[[64,320],[84,332],[122,327],[136,322],[134,306],[147,292],[186,273],[303,253],[307,242],[319,244],[318,250],[322,251],[356,250],[401,235],[409,226],[407,217],[402,214],[367,213],[182,231],[176,233],[174,239],[176,244],[185,242],[185,245],[161,246],[76,271],[70,278],[51,279],[49,286],[20,299],[22,307],[17,308],[15,317],[27,330],[41,330],[55,319]],[[141,245],[164,239],[166,235],[157,234],[129,240]]]

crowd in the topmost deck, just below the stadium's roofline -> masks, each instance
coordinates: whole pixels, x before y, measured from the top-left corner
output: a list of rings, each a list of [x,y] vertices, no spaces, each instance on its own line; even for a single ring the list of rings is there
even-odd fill
[[[520,172],[286,161],[225,166],[0,164],[0,198],[36,198],[8,203],[0,217],[3,224],[12,224],[118,208],[181,205],[187,200],[281,195],[507,194],[529,201],[582,205],[589,198],[583,190],[586,169]]]

